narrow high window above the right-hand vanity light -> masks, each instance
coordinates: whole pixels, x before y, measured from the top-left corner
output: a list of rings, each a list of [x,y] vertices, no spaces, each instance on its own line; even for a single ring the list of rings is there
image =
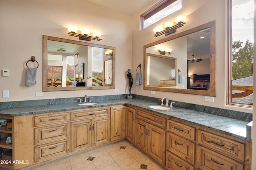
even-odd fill
[[[161,0],[140,15],[140,30],[182,8],[181,0]]]

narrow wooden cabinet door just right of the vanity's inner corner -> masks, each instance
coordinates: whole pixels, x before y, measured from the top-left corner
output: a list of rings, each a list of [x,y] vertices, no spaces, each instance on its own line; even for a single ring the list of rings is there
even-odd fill
[[[125,130],[125,137],[128,141],[134,144],[135,141],[135,109],[126,107],[125,111],[126,117],[126,130]]]

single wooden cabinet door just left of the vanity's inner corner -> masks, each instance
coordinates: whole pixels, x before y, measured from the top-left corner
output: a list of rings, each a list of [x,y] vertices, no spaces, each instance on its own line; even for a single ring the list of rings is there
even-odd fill
[[[110,140],[115,141],[118,139],[123,139],[125,136],[125,106],[111,107],[111,134]]]

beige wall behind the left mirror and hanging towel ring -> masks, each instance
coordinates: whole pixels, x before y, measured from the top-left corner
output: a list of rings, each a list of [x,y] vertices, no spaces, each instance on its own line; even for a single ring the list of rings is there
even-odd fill
[[[86,27],[102,33],[102,41],[91,43],[116,47],[116,89],[42,92],[42,36],[78,40],[68,35],[67,27]],[[0,76],[0,102],[40,100],[84,96],[126,94],[127,70],[132,66],[132,17],[86,0],[0,0],[0,70],[8,69],[9,77]],[[88,41],[86,41],[88,42]],[[34,55],[39,63],[37,84],[25,86],[26,62]],[[34,66],[30,62],[28,66]],[[2,90],[10,98],[2,98]]]

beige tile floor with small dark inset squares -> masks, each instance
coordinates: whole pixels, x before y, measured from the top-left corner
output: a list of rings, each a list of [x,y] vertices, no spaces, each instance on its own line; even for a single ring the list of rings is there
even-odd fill
[[[125,149],[120,149],[125,147]],[[93,160],[87,160],[88,158]],[[165,170],[126,139],[25,170]]]

